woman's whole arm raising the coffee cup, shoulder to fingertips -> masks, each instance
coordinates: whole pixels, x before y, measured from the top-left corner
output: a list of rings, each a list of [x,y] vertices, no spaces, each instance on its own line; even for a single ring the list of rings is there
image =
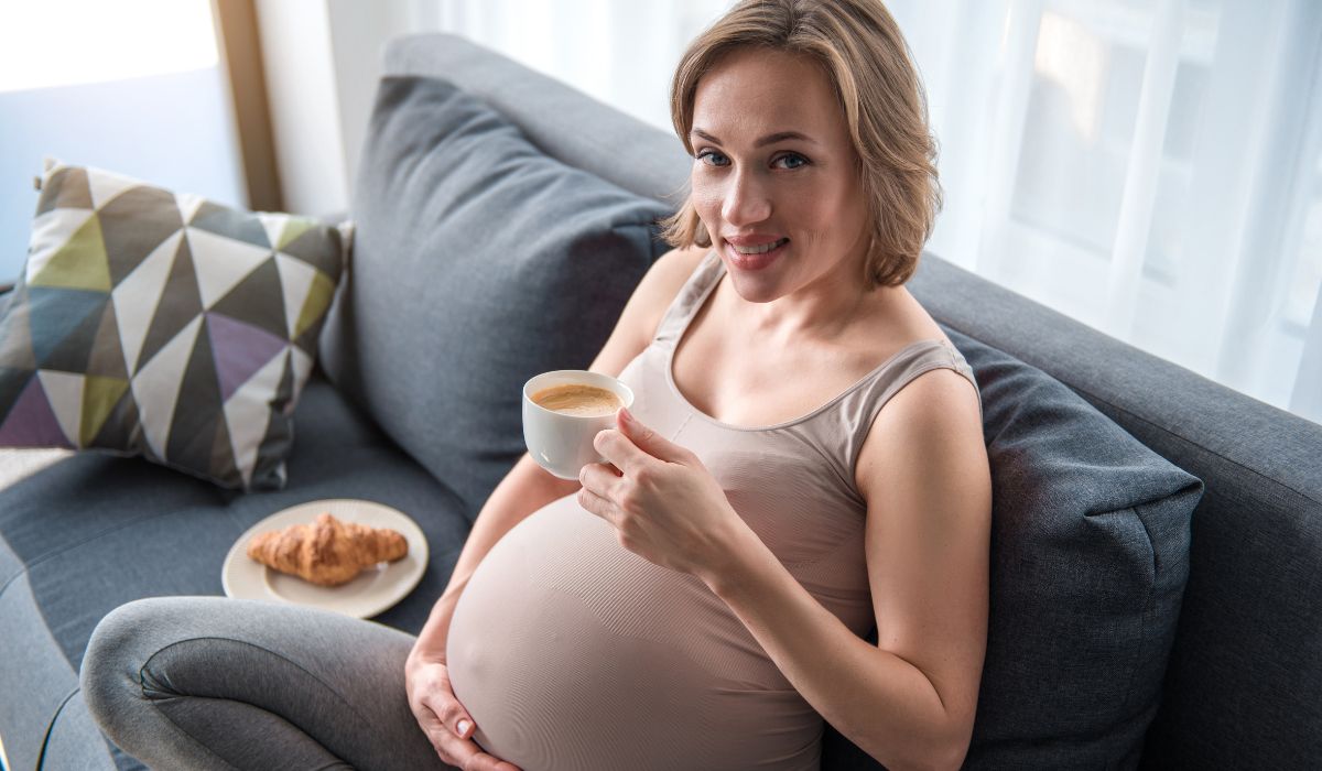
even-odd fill
[[[791,684],[888,768],[957,768],[986,649],[992,483],[977,394],[925,373],[874,421],[855,468],[876,615],[870,645],[821,606],[691,451],[620,411],[579,503],[653,563],[701,578]]]

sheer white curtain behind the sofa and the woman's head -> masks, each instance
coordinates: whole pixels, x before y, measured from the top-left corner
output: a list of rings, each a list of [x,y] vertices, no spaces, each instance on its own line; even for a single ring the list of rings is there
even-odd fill
[[[419,0],[661,128],[728,0]],[[928,90],[929,247],[1322,422],[1322,3],[888,0]]]

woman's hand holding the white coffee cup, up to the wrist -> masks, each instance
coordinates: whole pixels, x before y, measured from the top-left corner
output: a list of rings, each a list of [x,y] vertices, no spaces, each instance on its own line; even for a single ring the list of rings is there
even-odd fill
[[[615,526],[620,544],[644,559],[702,578],[730,554],[747,528],[711,472],[685,447],[621,409],[617,428],[594,446],[609,463],[579,472],[579,504]],[[619,471],[616,471],[619,469]]]

